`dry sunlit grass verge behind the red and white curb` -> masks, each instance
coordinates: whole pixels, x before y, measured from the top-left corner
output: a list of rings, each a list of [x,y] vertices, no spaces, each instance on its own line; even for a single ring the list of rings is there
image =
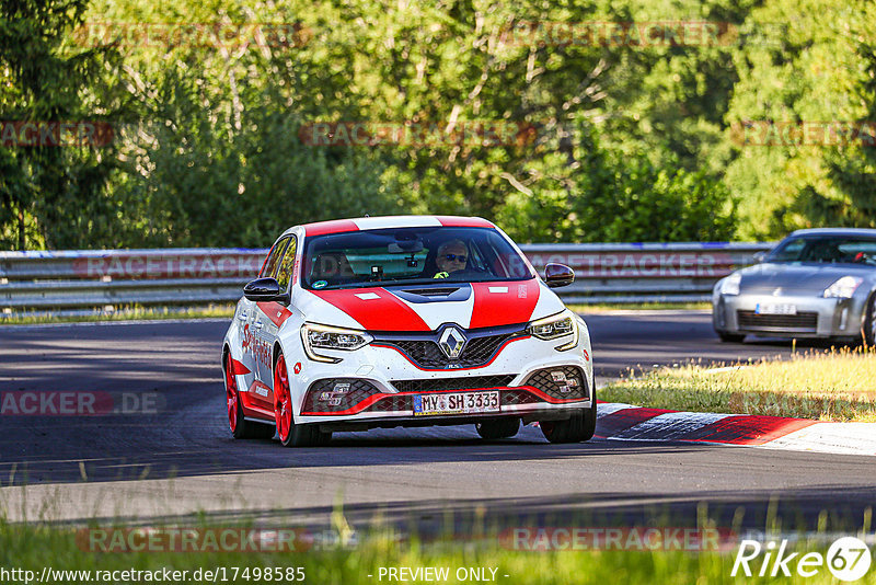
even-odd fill
[[[688,364],[612,382],[600,399],[656,409],[876,422],[876,354],[810,351],[726,367]]]

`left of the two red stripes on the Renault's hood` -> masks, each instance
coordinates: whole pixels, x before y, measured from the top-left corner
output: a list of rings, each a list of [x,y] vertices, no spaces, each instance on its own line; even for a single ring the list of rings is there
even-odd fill
[[[368,331],[431,331],[411,307],[383,288],[311,290],[337,307]],[[377,295],[362,299],[357,295]]]

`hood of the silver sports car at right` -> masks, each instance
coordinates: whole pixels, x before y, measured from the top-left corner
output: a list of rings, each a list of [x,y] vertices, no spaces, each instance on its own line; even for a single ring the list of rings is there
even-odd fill
[[[739,291],[775,295],[821,295],[827,287],[843,276],[866,277],[873,267],[850,264],[807,264],[765,262],[739,271],[742,279]]]

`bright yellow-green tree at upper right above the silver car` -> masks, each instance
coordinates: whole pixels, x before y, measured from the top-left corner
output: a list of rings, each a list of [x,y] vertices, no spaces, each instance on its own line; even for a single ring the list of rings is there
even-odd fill
[[[746,121],[872,124],[876,113],[873,24],[876,7],[855,0],[768,0],[752,11],[750,28],[783,23],[773,44],[744,46],[737,53],[739,82],[727,114],[727,136],[745,140]],[[769,126],[766,126],[769,128]],[[827,128],[827,126],[822,127]],[[829,133],[830,130],[828,130]],[[776,238],[819,226],[876,226],[873,147],[865,139],[831,145],[795,145],[756,131],[728,164],[726,184],[739,197],[744,238]]]

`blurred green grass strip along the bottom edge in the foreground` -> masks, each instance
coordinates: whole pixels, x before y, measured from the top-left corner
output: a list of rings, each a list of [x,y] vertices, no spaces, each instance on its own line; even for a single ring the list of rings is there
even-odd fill
[[[495,542],[495,540],[493,540]],[[804,546],[796,542],[795,548]],[[723,552],[683,551],[514,551],[495,544],[454,541],[443,544],[420,544],[416,541],[399,543],[393,539],[369,539],[353,550],[334,549],[303,552],[93,552],[77,540],[76,530],[50,528],[44,525],[16,525],[0,523],[0,567],[19,570],[19,578],[9,583],[25,583],[31,571],[31,582],[39,582],[45,567],[54,583],[137,582],[152,581],[143,575],[123,571],[187,571],[187,575],[173,580],[188,583],[252,583],[283,582],[359,585],[387,583],[381,567],[447,567],[443,583],[491,581],[507,584],[568,585],[587,583],[661,583],[665,585],[689,583],[750,582],[741,574],[733,578],[730,572],[736,548]],[[809,550],[820,550],[825,547]],[[805,549],[804,549],[805,550]],[[759,564],[754,571],[759,569]],[[296,578],[288,578],[289,570]],[[300,569],[300,572],[296,570]],[[460,580],[458,571],[483,570],[484,580]],[[495,570],[495,571],[493,571]],[[792,566],[793,570],[793,566]],[[89,573],[61,573],[88,571]],[[96,573],[100,571],[101,573]],[[200,571],[200,578],[195,573]],[[211,575],[205,574],[212,572]],[[212,576],[215,575],[215,576]],[[279,575],[279,578],[277,576]],[[298,578],[303,576],[303,580]],[[97,577],[97,578],[95,578]],[[103,578],[101,578],[103,577]],[[193,578],[194,577],[194,578]],[[164,577],[166,580],[168,577]],[[832,576],[822,566],[814,577],[794,575],[759,578],[759,583],[831,582]],[[410,581],[410,580],[408,580]],[[166,582],[166,581],[165,581]],[[420,580],[420,582],[423,582]],[[876,571],[860,583],[876,583]]]

